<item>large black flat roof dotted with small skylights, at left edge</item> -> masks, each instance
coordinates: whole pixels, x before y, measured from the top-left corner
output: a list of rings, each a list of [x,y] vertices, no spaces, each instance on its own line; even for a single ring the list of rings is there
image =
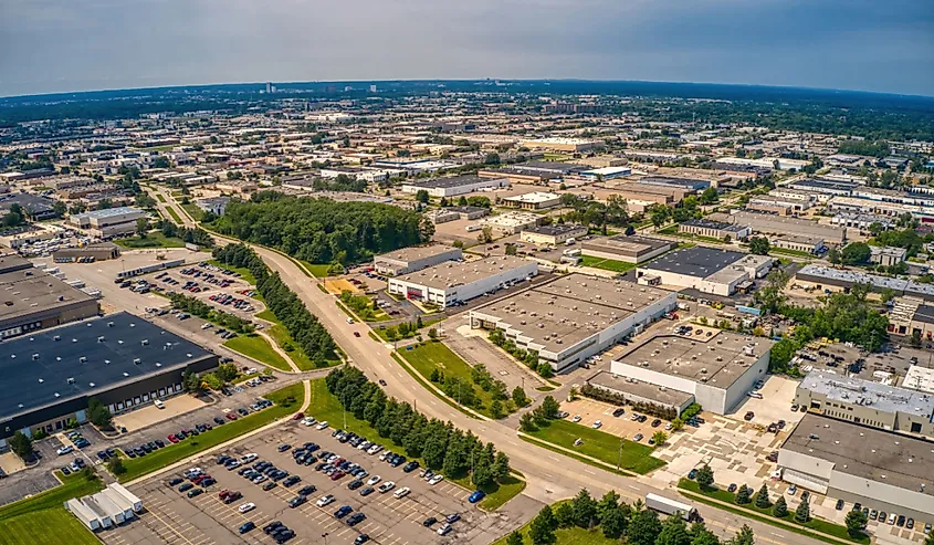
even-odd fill
[[[93,396],[206,357],[213,355],[126,312],[42,329],[0,343],[0,417]]]

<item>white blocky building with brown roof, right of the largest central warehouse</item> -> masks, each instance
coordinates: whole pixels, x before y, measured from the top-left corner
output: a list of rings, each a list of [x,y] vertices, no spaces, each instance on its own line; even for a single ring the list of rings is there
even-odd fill
[[[631,384],[651,385],[662,392],[689,394],[691,402],[704,410],[726,415],[746,397],[756,380],[766,377],[775,343],[714,328],[707,332],[711,336],[654,335],[615,359],[610,373]],[[626,395],[625,388],[621,391]],[[643,391],[641,397],[650,398],[648,394]]]

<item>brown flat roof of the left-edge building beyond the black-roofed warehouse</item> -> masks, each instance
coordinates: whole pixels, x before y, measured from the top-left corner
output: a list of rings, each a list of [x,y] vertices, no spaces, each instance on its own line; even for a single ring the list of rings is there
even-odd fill
[[[0,273],[0,321],[87,301],[94,297],[40,269]]]

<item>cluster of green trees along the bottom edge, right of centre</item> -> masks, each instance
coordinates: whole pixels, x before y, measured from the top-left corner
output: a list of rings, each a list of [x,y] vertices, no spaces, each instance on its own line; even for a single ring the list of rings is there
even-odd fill
[[[642,501],[633,505],[620,501],[615,491],[609,491],[600,500],[581,490],[574,499],[560,502],[554,507],[546,505],[532,520],[528,527],[528,541],[520,532],[513,532],[506,538],[507,545],[549,545],[557,541],[556,531],[560,528],[599,530],[607,539],[620,539],[629,545],[720,545],[722,542],[703,522],[688,525],[678,515],[659,520],[658,513],[644,509]],[[726,545],[753,545],[755,536],[752,528],[743,525],[739,532],[725,542]]]

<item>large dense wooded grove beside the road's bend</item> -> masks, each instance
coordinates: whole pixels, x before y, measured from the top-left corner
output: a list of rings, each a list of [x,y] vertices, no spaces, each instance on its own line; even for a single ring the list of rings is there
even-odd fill
[[[377,202],[336,202],[260,191],[232,201],[213,229],[276,248],[311,263],[354,263],[427,242],[434,226],[411,210]]]

